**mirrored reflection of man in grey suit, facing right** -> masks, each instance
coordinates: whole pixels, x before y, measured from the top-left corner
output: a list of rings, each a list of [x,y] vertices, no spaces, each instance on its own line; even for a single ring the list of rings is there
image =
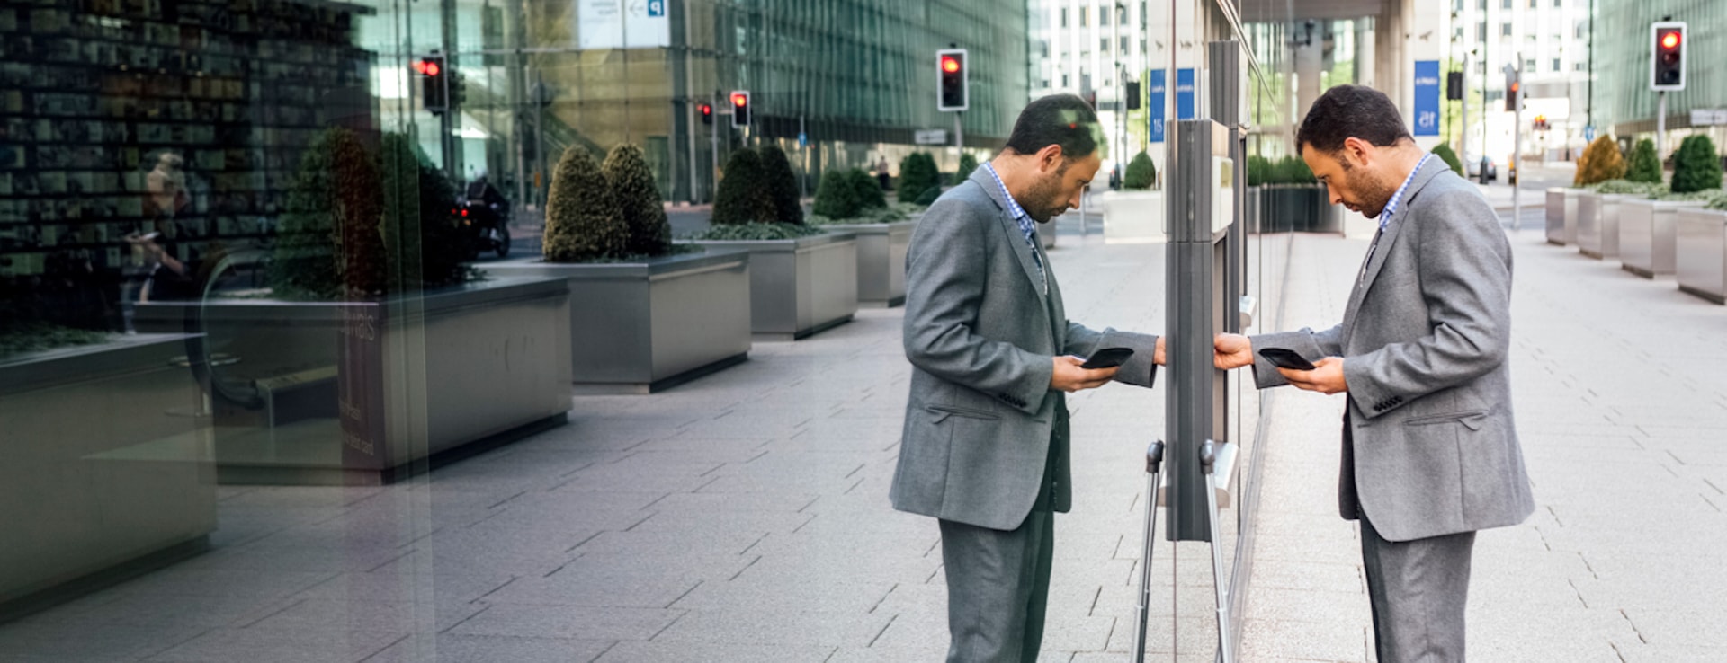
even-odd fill
[[[1052,515],[1072,497],[1066,394],[1150,387],[1162,363],[1157,337],[1067,319],[1033,224],[1079,205],[1098,142],[1079,97],[1031,102],[1007,148],[929,205],[907,254],[912,388],[889,497],[938,518],[948,661],[1038,658]],[[1135,354],[1119,368],[1079,366],[1105,347]]]

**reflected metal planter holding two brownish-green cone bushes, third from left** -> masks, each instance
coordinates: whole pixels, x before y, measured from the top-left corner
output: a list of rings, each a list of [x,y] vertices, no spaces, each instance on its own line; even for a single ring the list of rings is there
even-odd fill
[[[570,375],[579,394],[651,394],[750,356],[750,252],[641,262],[490,262],[501,276],[570,287]]]

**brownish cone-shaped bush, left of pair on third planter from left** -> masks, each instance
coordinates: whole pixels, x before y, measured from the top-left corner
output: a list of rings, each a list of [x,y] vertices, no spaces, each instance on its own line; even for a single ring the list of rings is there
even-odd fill
[[[582,145],[558,159],[546,199],[546,261],[582,262],[629,252],[630,228],[599,162]]]

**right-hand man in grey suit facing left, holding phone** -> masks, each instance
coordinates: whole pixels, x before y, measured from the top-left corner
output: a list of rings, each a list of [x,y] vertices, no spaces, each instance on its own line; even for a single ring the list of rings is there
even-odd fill
[[[1380,231],[1330,330],[1219,335],[1261,388],[1349,394],[1338,508],[1361,521],[1378,660],[1463,661],[1475,532],[1534,511],[1511,418],[1511,245],[1482,193],[1423,154],[1364,86],[1321,95],[1295,136],[1333,204]],[[1254,349],[1316,364],[1276,368]]]

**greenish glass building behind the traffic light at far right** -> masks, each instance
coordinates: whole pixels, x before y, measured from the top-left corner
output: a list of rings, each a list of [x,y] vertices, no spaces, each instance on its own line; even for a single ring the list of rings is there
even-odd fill
[[[1667,93],[1667,152],[1680,136],[1710,133],[1717,147],[1727,145],[1727,3],[1673,0],[1596,0],[1596,128],[1622,140],[1654,138],[1658,95],[1649,90],[1649,24],[1672,17],[1686,21],[1686,90]],[[1615,26],[1608,29],[1606,26]],[[1694,119],[1698,124],[1694,124]],[[1703,124],[1706,123],[1706,124]]]

